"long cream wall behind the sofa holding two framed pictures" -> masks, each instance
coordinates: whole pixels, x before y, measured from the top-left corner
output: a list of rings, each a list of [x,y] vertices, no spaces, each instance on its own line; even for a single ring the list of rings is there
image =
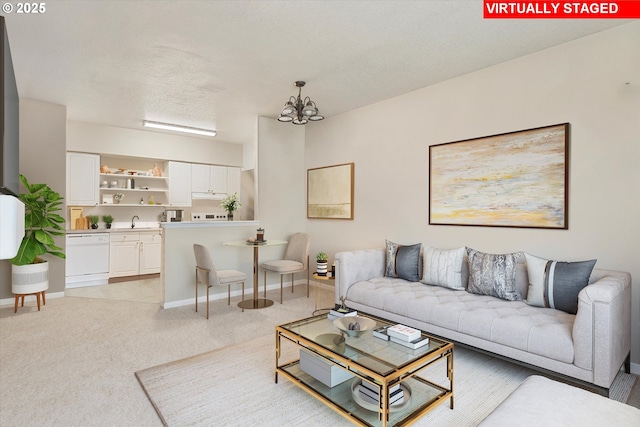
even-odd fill
[[[308,220],[311,253],[381,247],[387,238],[597,258],[597,268],[632,274],[632,361],[640,363],[637,52],[636,22],[306,126],[307,168],[355,162],[355,220]],[[428,224],[430,145],[563,122],[571,123],[568,230]]]

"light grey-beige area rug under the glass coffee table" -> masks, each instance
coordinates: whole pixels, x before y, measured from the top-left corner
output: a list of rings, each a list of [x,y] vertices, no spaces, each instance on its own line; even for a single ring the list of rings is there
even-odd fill
[[[268,335],[138,371],[136,377],[167,426],[349,425],[282,376],[275,384],[274,347],[275,338]],[[283,346],[281,362],[294,358],[296,349]],[[429,370],[444,375],[440,363]],[[532,374],[530,369],[456,348],[454,410],[443,403],[414,425],[474,426]],[[633,375],[619,374],[611,398],[626,402],[634,381]]]

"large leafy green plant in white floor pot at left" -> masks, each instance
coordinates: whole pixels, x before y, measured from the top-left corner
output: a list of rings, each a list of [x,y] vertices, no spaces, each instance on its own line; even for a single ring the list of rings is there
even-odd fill
[[[42,255],[65,258],[62,248],[56,246],[53,236],[64,236],[64,218],[61,211],[62,196],[47,184],[29,184],[24,175],[20,182],[27,192],[20,194],[24,203],[24,237],[18,253],[10,262],[16,295],[44,292],[49,288],[49,263]]]

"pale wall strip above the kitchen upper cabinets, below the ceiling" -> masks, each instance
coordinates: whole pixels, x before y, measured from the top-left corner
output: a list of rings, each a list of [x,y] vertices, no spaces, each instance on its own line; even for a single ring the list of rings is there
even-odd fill
[[[69,121],[67,130],[68,151],[242,167],[242,149],[211,138],[76,121]]]

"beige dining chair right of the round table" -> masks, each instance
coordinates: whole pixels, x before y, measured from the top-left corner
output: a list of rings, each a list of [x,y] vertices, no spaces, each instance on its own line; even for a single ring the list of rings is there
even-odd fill
[[[295,273],[307,271],[307,298],[309,298],[309,244],[307,233],[295,233],[289,238],[284,258],[281,260],[262,263],[264,269],[264,295],[267,295],[267,271],[280,275],[280,304],[282,304],[282,278],[291,274],[291,292],[293,292],[293,278]]]

